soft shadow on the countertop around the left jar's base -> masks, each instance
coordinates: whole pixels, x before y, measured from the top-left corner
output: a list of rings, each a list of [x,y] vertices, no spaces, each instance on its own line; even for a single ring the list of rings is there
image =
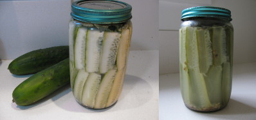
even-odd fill
[[[143,87],[140,91],[140,96],[135,97],[134,89],[138,89],[138,87]],[[138,94],[137,93],[137,94]],[[129,95],[128,95],[129,94]],[[99,112],[113,112],[118,110],[127,110],[127,109],[134,109],[137,107],[142,106],[143,104],[147,103],[149,100],[152,99],[153,90],[149,83],[146,80],[143,80],[139,77],[133,75],[126,75],[123,83],[123,90],[115,105],[107,108],[107,109],[100,109],[100,110],[93,110],[87,109],[80,105],[74,98],[73,94],[66,94],[60,100],[55,101],[55,97],[51,98],[54,103],[60,107],[61,109],[70,111],[70,112],[84,112],[84,113],[99,113]],[[132,98],[130,96],[133,96]],[[127,102],[129,102],[127,104]],[[125,105],[124,105],[125,104]]]

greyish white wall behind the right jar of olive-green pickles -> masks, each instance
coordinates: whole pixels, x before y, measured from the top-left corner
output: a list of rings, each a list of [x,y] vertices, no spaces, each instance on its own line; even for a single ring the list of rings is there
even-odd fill
[[[255,0],[160,0],[160,74],[179,71],[178,29],[181,11],[192,6],[219,6],[232,12],[234,63],[256,61]]]

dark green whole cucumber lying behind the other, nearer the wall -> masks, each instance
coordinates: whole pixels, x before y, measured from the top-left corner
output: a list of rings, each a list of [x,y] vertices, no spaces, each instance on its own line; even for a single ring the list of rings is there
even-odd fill
[[[68,46],[33,50],[32,52],[28,52],[14,59],[14,61],[9,64],[8,70],[14,75],[37,73],[68,57]]]

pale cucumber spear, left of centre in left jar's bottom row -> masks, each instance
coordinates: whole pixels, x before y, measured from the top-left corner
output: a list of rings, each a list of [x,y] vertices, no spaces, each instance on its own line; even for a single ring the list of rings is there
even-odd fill
[[[95,105],[95,97],[100,86],[101,75],[98,73],[89,73],[84,90],[82,92],[82,104],[93,108]]]

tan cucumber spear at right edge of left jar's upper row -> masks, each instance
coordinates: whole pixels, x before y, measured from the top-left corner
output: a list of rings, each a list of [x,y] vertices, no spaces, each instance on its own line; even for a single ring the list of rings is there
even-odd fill
[[[123,70],[127,63],[127,53],[129,50],[130,30],[124,29],[121,34],[118,52],[116,56],[116,66],[118,70]]]

